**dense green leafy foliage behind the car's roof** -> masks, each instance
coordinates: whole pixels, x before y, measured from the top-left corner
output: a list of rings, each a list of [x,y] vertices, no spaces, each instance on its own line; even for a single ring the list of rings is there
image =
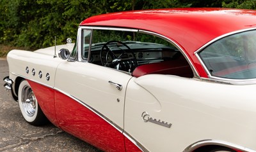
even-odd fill
[[[76,40],[85,18],[152,8],[227,7],[256,9],[255,0],[0,0],[0,44],[42,48]]]

